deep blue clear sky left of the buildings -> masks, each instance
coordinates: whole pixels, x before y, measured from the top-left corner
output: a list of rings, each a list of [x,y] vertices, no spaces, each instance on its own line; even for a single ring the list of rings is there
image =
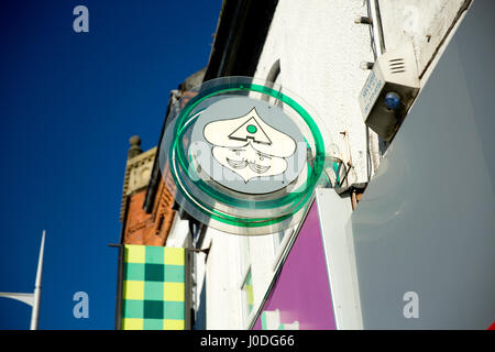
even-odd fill
[[[75,33],[73,9],[89,10]],[[168,92],[208,63],[221,0],[0,1],[0,292],[32,292],[40,329],[113,329],[129,138],[157,144]],[[89,318],[73,295],[89,295]],[[31,308],[0,298],[0,329]]]

